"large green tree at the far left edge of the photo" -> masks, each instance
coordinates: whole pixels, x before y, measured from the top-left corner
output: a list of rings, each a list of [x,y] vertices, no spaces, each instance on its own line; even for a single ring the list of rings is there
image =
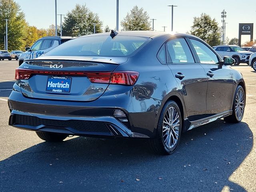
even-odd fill
[[[26,21],[25,15],[14,0],[0,0],[0,49],[4,49],[4,36],[8,19],[8,50],[19,50],[24,47]]]

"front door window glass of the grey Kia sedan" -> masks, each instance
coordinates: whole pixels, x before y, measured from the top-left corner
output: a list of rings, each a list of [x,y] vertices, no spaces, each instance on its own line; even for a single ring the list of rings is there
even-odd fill
[[[216,54],[208,46],[194,39],[190,39],[190,41],[196,50],[200,63],[217,64],[219,62]]]

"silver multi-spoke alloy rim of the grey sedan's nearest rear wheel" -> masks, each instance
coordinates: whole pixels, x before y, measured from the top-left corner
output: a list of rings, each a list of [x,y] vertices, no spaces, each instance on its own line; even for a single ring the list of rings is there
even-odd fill
[[[166,147],[174,148],[178,142],[180,132],[180,116],[174,106],[168,108],[164,115],[162,132]]]

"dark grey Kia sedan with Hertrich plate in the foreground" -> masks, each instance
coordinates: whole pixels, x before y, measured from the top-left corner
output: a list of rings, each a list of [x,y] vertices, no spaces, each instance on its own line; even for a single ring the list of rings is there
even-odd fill
[[[9,125],[47,142],[147,138],[155,152],[171,154],[184,131],[242,120],[246,87],[233,63],[189,34],[81,36],[16,69]]]

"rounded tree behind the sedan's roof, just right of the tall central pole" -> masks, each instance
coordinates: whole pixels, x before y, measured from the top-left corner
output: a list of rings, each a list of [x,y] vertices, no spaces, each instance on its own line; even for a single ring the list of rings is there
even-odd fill
[[[121,26],[125,31],[139,31],[139,30],[150,30],[151,23],[149,15],[143,8],[134,6],[130,13],[127,13],[124,20],[121,21]]]

